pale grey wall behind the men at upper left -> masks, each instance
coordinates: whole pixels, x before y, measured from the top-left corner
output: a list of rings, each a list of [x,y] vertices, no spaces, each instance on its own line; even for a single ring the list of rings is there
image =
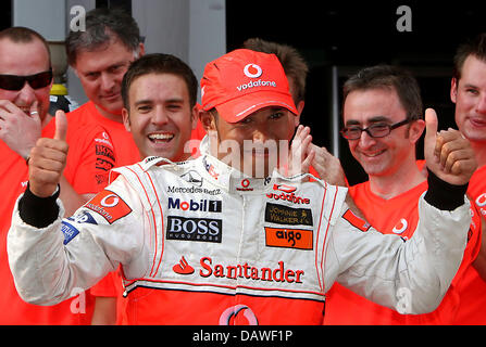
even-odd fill
[[[27,26],[48,41],[63,41],[68,31],[71,8],[86,12],[96,0],[13,0],[13,25]],[[226,53],[225,0],[137,0],[132,14],[146,37],[147,53],[170,53],[189,64],[198,79],[208,62]],[[70,68],[67,89],[79,104],[87,101]]]

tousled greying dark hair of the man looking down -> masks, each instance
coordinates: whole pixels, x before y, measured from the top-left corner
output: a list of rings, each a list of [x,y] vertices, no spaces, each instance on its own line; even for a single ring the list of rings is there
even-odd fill
[[[120,8],[91,10],[86,14],[86,30],[70,31],[66,38],[67,63],[74,66],[80,50],[94,51],[116,39],[137,52],[141,42],[137,22]]]

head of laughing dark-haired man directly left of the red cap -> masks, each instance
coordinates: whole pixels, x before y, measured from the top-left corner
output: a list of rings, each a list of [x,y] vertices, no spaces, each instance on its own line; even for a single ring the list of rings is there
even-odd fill
[[[141,157],[183,162],[184,146],[196,128],[198,81],[191,69],[169,54],[136,61],[122,85],[123,121]]]

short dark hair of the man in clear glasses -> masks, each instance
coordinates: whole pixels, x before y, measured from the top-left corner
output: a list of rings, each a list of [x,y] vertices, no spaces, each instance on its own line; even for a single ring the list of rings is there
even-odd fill
[[[395,90],[407,112],[407,118],[423,118],[419,82],[409,70],[392,65],[375,65],[359,70],[342,87],[342,105],[350,92],[370,89]]]

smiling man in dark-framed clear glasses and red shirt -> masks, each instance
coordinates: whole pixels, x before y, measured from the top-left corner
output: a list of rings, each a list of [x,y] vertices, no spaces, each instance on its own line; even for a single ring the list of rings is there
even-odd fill
[[[388,65],[360,70],[344,86],[344,124],[341,134],[369,175],[369,181],[350,188],[357,206],[381,232],[409,240],[419,222],[416,202],[427,190],[426,175],[415,157],[425,128],[415,78]],[[466,141],[457,130],[440,134],[451,139],[450,147]],[[450,169],[448,163],[445,167]],[[336,284],[326,303],[325,324],[451,324],[460,305],[457,286],[477,256],[479,231],[481,220],[474,211],[461,267],[435,311],[399,314]],[[406,305],[408,293],[402,294]]]

